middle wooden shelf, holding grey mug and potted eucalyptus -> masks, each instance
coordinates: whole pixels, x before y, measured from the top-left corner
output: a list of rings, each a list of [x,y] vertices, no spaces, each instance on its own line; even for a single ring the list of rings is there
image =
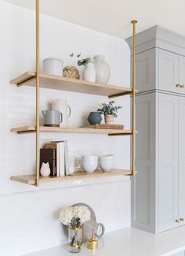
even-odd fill
[[[11,132],[29,133],[35,132],[35,126],[24,126],[12,128]],[[131,130],[113,130],[113,129],[97,129],[97,128],[61,128],[40,126],[40,132],[62,132],[62,133],[91,133],[91,134],[108,134],[108,135],[132,135]]]

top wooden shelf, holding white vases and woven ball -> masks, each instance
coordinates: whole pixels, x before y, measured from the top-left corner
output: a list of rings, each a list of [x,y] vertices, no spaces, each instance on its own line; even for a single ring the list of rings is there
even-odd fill
[[[102,95],[109,98],[130,95],[132,93],[131,88],[111,84],[92,83],[85,80],[69,79],[63,76],[51,76],[43,73],[41,73],[39,77],[40,87],[54,90]],[[22,85],[35,87],[35,78],[35,72],[25,72],[23,75],[11,80],[10,83],[17,84],[18,87]]]

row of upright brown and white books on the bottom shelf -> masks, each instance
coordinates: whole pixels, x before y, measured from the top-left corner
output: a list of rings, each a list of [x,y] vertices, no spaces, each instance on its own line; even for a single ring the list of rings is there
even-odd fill
[[[40,167],[49,162],[50,176],[67,176],[70,174],[67,141],[45,143],[40,149]]]

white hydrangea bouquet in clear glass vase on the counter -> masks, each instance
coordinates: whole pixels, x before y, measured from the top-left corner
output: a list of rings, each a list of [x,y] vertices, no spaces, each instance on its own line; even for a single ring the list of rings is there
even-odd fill
[[[91,212],[87,206],[63,207],[59,213],[59,221],[68,225],[68,250],[72,253],[79,252],[82,245],[82,226],[89,221]]]

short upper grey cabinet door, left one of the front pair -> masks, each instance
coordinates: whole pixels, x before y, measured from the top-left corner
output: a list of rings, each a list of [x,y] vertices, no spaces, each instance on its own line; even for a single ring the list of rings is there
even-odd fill
[[[179,56],[167,50],[159,50],[159,89],[179,92]]]

